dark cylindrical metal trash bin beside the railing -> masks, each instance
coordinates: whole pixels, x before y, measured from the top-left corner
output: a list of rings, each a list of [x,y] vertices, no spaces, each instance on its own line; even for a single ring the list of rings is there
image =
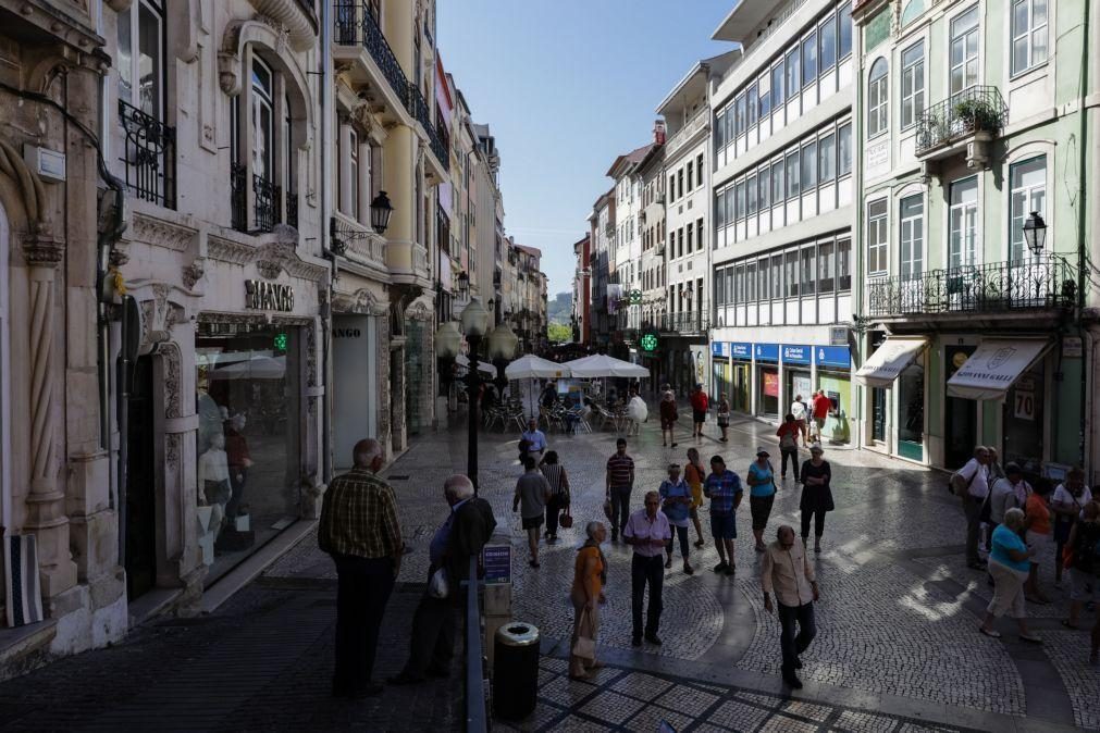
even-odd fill
[[[514,621],[496,632],[493,653],[493,710],[521,720],[535,711],[539,695],[539,630]]]

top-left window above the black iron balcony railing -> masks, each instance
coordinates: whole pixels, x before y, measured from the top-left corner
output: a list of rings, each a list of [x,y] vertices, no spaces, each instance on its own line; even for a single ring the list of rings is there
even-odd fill
[[[140,0],[119,13],[119,99],[164,121],[164,18],[157,4]]]

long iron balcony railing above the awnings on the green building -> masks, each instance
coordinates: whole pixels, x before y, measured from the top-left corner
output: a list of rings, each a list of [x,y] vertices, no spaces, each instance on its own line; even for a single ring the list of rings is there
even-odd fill
[[[1048,253],[1023,260],[965,265],[867,284],[867,312],[875,318],[1076,304],[1074,268],[1063,257]]]

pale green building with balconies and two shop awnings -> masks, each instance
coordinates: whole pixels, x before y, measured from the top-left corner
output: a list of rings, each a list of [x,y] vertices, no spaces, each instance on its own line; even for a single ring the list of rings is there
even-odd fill
[[[1084,3],[858,5],[862,442],[946,467],[993,445],[1033,477],[1094,466]]]

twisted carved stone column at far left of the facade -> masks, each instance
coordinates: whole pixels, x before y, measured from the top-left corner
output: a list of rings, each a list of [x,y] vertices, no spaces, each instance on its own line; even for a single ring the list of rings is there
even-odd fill
[[[42,593],[53,598],[77,581],[77,567],[69,552],[69,524],[65,513],[65,492],[57,487],[58,443],[54,413],[54,380],[57,334],[54,318],[54,276],[64,256],[64,246],[45,233],[28,235],[23,243],[30,280],[31,366],[31,490],[26,497],[28,533],[37,536],[38,575]]]

